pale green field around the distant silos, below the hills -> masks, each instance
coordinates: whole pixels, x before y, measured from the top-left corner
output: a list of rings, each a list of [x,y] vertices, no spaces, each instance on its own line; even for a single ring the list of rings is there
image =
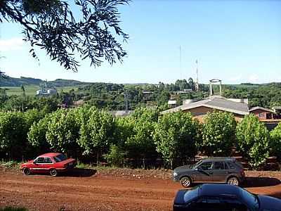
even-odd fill
[[[0,87],[1,89],[6,89],[6,93],[8,96],[17,95],[22,96],[22,89],[20,87]],[[55,88],[58,90],[58,93],[60,93],[61,90],[63,91],[70,91],[71,89],[74,89],[74,91],[77,91],[78,86],[76,87],[58,87]],[[36,91],[41,89],[39,86],[25,86],[25,94],[27,96],[35,96]]]

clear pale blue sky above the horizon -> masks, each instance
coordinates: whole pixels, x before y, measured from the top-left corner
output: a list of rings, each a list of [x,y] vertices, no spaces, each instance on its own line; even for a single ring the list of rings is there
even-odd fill
[[[281,1],[134,0],[119,11],[130,36],[123,63],[87,60],[71,72],[43,50],[38,63],[20,25],[1,23],[0,68],[11,77],[156,84],[195,79],[198,60],[200,83],[281,82]]]

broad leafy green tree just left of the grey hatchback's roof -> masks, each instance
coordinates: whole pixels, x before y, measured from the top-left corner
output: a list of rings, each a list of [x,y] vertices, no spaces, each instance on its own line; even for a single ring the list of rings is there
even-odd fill
[[[199,124],[190,113],[166,113],[155,124],[153,136],[157,152],[173,167],[177,158],[192,158],[197,153]]]

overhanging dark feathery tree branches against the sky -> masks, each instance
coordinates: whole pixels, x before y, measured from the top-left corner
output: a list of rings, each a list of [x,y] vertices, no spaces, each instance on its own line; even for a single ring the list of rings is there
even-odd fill
[[[39,60],[35,47],[44,49],[51,60],[57,60],[67,70],[77,72],[79,58],[89,58],[99,66],[103,59],[111,65],[122,62],[126,51],[122,41],[129,35],[119,27],[118,6],[130,0],[75,0],[70,5],[63,0],[2,0],[0,23],[19,23],[30,53]],[[72,7],[77,7],[72,13]],[[121,38],[121,40],[119,40]],[[2,72],[0,72],[2,76]]]

